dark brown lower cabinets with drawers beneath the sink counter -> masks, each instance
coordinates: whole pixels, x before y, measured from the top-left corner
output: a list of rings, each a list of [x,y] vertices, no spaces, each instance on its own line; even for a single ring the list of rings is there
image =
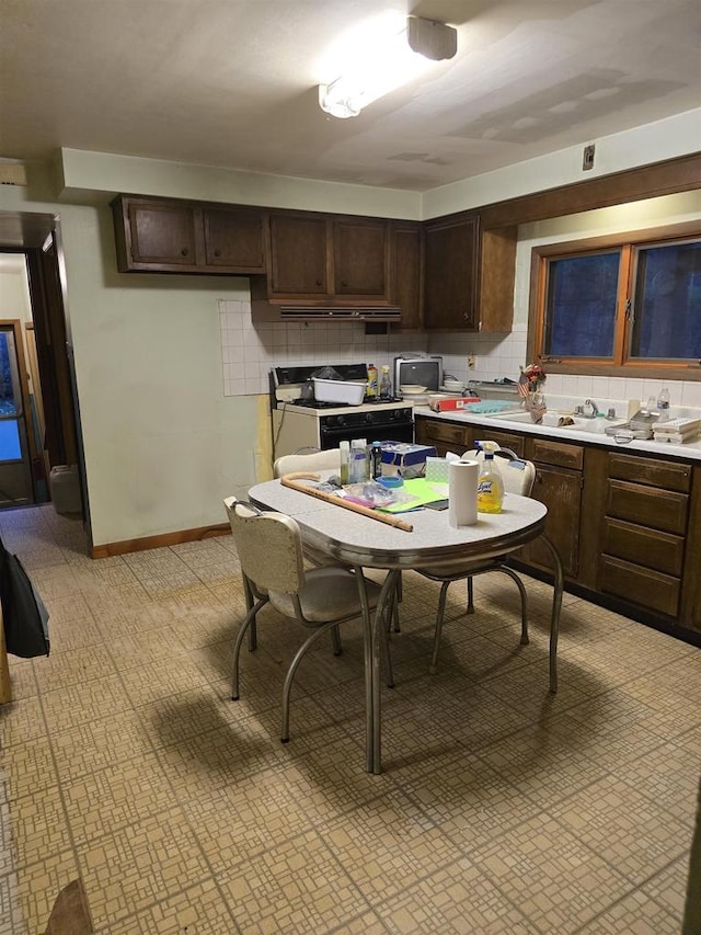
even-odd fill
[[[435,445],[440,455],[470,451],[481,438],[498,441],[536,466],[531,495],[548,508],[545,532],[575,593],[698,641],[701,464],[416,420],[417,442]],[[538,540],[514,558],[535,574],[552,571],[550,551]]]

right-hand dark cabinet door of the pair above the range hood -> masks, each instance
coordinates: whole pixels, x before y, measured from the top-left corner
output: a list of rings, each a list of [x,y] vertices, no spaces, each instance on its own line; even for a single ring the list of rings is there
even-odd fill
[[[334,219],[334,293],[387,301],[389,239],[384,220]]]

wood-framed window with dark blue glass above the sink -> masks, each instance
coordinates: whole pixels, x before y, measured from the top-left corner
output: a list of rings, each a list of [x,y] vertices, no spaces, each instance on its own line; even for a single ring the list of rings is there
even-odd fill
[[[533,251],[535,358],[568,373],[698,372],[701,237],[601,241],[600,249],[589,240],[581,250],[567,243]]]

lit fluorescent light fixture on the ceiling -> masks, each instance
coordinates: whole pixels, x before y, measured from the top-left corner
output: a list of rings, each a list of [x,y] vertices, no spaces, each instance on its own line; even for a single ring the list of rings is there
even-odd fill
[[[366,56],[331,84],[319,85],[319,106],[334,117],[357,117],[372,101],[420,77],[432,61],[452,58],[457,50],[453,26],[407,16],[406,26],[375,56]]]

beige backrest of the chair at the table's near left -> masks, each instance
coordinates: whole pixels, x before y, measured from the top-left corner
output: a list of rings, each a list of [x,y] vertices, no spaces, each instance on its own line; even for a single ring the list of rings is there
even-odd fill
[[[223,504],[245,577],[258,592],[296,594],[304,583],[297,521],[284,513],[258,513],[235,497]]]

